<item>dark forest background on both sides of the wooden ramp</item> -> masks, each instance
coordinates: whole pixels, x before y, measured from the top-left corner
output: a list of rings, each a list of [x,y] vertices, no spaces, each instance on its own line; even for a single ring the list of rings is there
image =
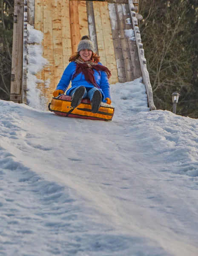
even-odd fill
[[[14,0],[0,0],[0,99],[9,100]],[[198,118],[198,0],[139,0],[139,29],[157,109]]]

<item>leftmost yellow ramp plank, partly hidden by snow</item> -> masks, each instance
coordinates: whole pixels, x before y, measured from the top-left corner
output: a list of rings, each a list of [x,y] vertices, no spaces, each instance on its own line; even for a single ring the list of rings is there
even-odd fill
[[[38,29],[43,32],[43,0],[35,0],[34,8],[34,29]],[[44,48],[44,40],[42,42],[42,46]],[[37,83],[37,88],[40,90],[40,97],[43,97],[45,94],[44,69],[37,73],[36,76],[38,81],[40,81]]]

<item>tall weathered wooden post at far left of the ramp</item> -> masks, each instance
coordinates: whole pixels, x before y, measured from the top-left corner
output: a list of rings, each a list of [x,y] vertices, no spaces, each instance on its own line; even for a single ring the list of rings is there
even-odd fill
[[[10,100],[22,101],[23,76],[23,9],[24,0],[14,0],[14,27],[11,65]]]

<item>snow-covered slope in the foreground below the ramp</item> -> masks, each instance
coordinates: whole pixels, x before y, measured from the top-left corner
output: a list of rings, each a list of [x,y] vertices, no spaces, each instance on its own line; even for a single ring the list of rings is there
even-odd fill
[[[0,256],[198,255],[198,120],[111,94],[112,122],[0,101]]]

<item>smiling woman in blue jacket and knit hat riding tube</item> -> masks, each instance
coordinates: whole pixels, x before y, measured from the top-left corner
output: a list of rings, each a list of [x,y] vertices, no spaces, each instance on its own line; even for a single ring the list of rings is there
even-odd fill
[[[83,36],[77,47],[77,53],[69,58],[66,67],[53,96],[65,93],[70,81],[72,87],[66,95],[72,96],[71,106],[76,108],[83,98],[89,98],[92,112],[97,113],[100,103],[111,104],[109,81],[111,72],[100,62],[100,57],[94,53],[94,44],[88,36]]]

